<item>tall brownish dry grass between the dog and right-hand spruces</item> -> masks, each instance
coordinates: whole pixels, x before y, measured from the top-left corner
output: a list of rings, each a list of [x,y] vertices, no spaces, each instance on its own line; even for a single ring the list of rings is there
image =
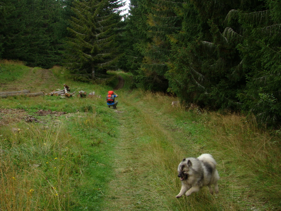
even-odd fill
[[[207,127],[213,131],[212,147],[223,162],[224,171],[247,186],[245,194],[280,206],[280,137],[259,129],[241,115],[209,113]],[[234,176],[236,175],[236,176]]]

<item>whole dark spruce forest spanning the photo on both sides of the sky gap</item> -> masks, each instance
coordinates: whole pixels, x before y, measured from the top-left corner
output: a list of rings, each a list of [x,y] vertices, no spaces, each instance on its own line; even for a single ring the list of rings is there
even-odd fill
[[[274,0],[1,0],[0,58],[64,65],[76,79],[108,69],[184,103],[254,113],[278,126],[281,5]]]

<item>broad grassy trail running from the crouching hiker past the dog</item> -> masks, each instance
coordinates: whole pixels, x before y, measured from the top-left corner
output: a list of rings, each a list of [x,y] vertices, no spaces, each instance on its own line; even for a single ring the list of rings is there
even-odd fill
[[[237,175],[235,167],[243,164],[233,164],[238,153],[228,150],[237,146],[221,131],[224,126],[218,128],[219,123],[204,114],[198,119],[192,113],[172,108],[171,98],[142,93],[142,97],[138,95],[134,101],[134,95],[138,94],[121,97],[118,107],[124,113],[115,115],[119,121],[119,139],[115,143],[116,159],[113,161],[116,177],[109,184],[103,210],[265,208],[262,199],[251,195],[254,187],[249,186],[246,180],[248,176],[241,177],[249,172],[243,171]],[[208,127],[204,125],[207,121]],[[236,120],[228,119],[224,124],[231,125],[233,121],[237,123]],[[234,128],[231,133],[235,131]],[[233,136],[235,134],[230,137]],[[226,141],[216,141],[220,139]],[[207,188],[202,188],[189,197],[175,198],[180,190],[176,173],[178,163],[184,157],[197,157],[202,153],[211,153],[218,162],[221,177],[219,194],[211,195]]]

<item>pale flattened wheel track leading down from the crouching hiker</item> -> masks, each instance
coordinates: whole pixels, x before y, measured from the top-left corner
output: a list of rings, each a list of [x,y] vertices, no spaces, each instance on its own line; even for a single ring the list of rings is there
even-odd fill
[[[108,189],[106,208],[103,210],[151,210],[150,196],[144,188],[144,164],[141,141],[138,134],[141,127],[135,118],[125,117],[128,113],[119,114],[120,134],[116,143],[116,178],[111,181]],[[125,115],[125,116],[124,116]]]

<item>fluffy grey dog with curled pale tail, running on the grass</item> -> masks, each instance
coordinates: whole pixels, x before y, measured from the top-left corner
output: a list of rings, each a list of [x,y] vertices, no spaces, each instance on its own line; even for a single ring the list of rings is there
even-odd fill
[[[214,185],[216,193],[219,193],[218,180],[219,173],[216,169],[216,161],[210,154],[202,154],[198,158],[184,158],[178,166],[178,177],[181,180],[180,193],[189,196],[193,192],[198,192],[202,186],[208,186],[213,194],[211,185]]]

